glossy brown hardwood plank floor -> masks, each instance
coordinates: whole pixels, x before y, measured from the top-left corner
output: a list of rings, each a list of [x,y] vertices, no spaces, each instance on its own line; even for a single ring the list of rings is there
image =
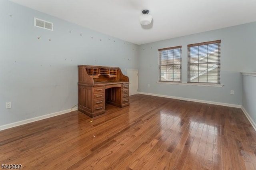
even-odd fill
[[[241,109],[133,95],[90,118],[74,111],[0,131],[0,164],[22,169],[254,170]]]

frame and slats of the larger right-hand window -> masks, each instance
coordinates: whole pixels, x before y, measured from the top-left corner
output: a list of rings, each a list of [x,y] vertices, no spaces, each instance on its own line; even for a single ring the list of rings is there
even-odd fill
[[[208,45],[211,45],[211,44],[217,44],[217,61],[208,61],[208,54],[209,54],[209,52],[208,52]],[[194,81],[191,81],[191,71],[190,71],[190,67],[191,67],[191,65],[196,65],[195,63],[192,63],[191,62],[191,47],[198,47],[198,56],[200,55],[200,52],[199,52],[199,47],[200,46],[203,46],[203,45],[207,45],[207,57],[206,57],[206,59],[207,59],[207,62],[203,62],[203,63],[200,63],[199,62],[199,57],[198,57],[198,73],[197,73],[197,75],[198,75],[198,77],[199,76],[201,76],[200,75],[200,73],[202,73],[202,72],[199,72],[199,66],[200,65],[207,65],[207,74],[206,74],[206,76],[207,76],[207,78],[206,79],[204,79],[204,80],[206,80],[207,82],[205,82],[205,81],[200,81],[200,79],[198,78],[198,82],[194,82]],[[221,40],[215,40],[215,41],[210,41],[210,42],[202,42],[202,43],[194,43],[194,44],[188,44],[188,69],[187,69],[187,82],[188,83],[198,83],[198,84],[202,84],[202,83],[204,83],[204,84],[216,84],[216,85],[220,85],[220,45],[221,45]],[[202,53],[201,53],[202,54]],[[217,78],[216,78],[216,80],[217,80],[217,82],[216,83],[214,83],[214,82],[208,82],[209,80],[208,80],[208,73],[209,73],[209,71],[208,71],[208,64],[213,64],[213,63],[216,63],[217,64],[217,73],[216,73],[216,76],[217,76]],[[211,71],[211,70],[210,70]]]

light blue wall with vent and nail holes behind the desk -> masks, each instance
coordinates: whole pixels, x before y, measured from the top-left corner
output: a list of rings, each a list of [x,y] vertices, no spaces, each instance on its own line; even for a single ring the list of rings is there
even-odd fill
[[[34,27],[34,17],[53,22],[54,31]],[[0,23],[0,126],[76,105],[77,65],[138,69],[138,45],[7,0]]]

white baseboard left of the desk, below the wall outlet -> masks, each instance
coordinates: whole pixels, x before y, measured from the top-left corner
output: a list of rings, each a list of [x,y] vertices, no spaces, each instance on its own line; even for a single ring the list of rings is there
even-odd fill
[[[78,109],[78,107],[73,107],[72,111],[77,111],[77,109]],[[27,124],[27,123],[32,123],[32,122],[35,122],[35,121],[40,121],[42,119],[47,119],[47,118],[50,118],[50,117],[62,115],[62,114],[69,113],[69,112],[71,112],[71,109],[67,109],[67,110],[59,111],[59,112],[55,112],[55,113],[50,113],[48,115],[34,117],[34,118],[31,118],[31,119],[26,119],[26,120],[23,120],[23,121],[10,123],[10,124],[7,124],[7,125],[2,125],[2,126],[0,126],[0,130],[12,128],[12,127],[17,127],[17,126],[24,125],[24,124]]]

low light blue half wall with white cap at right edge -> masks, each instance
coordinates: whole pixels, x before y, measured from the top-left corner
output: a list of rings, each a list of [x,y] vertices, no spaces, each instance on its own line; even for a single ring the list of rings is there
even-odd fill
[[[242,106],[256,123],[256,77],[243,75]]]

